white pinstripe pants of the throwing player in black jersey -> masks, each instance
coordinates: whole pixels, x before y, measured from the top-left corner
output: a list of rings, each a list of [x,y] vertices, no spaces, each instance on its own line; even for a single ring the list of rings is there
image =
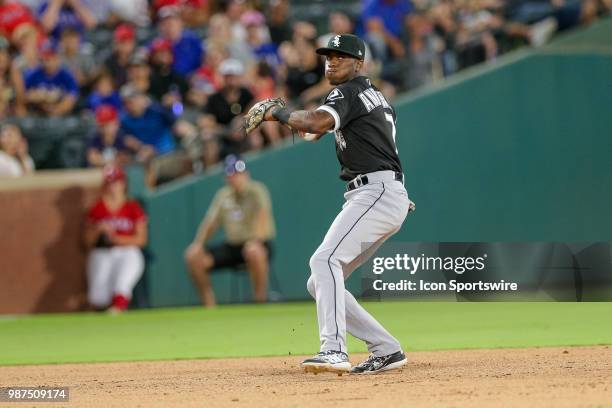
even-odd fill
[[[346,332],[375,356],[399,342],[344,288],[344,280],[401,227],[410,200],[399,181],[371,183],[344,194],[342,211],[310,258],[308,292],[317,302],[321,351],[347,352]]]

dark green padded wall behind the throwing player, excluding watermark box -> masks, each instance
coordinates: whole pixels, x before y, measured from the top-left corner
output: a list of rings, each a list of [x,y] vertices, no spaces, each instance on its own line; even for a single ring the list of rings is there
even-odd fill
[[[518,52],[396,101],[397,143],[417,211],[394,240],[612,241],[609,30],[608,21],[584,41],[562,39],[568,49]],[[585,43],[598,47],[581,51]],[[308,259],[343,202],[333,137],[250,157],[248,166],[272,194],[272,289],[286,300],[308,298]],[[144,196],[151,306],[198,302],[182,252],[222,184],[212,172]],[[245,276],[214,280],[221,302],[248,299]],[[358,290],[359,281],[348,287]]]

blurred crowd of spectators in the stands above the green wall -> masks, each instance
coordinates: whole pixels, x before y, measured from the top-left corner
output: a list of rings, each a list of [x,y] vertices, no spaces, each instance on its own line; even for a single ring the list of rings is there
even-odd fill
[[[366,40],[366,74],[392,99],[612,9],[612,0],[355,1],[356,15],[327,4],[322,23],[288,0],[0,0],[0,120],[89,115],[87,165],[147,163],[154,185],[290,135],[266,123],[246,136],[240,118],[272,96],[316,105],[330,86],[314,50],[334,34]],[[160,156],[171,159],[151,165]]]

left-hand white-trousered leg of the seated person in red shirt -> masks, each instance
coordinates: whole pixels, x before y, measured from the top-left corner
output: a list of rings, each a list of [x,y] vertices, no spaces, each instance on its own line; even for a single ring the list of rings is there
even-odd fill
[[[96,309],[105,309],[112,299],[112,258],[110,248],[96,248],[87,259],[87,300]]]

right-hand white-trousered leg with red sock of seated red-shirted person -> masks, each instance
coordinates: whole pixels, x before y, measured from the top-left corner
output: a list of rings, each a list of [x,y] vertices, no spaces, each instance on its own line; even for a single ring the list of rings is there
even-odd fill
[[[132,300],[134,287],[144,273],[144,256],[140,248],[120,246],[113,251],[113,308],[126,310]]]

